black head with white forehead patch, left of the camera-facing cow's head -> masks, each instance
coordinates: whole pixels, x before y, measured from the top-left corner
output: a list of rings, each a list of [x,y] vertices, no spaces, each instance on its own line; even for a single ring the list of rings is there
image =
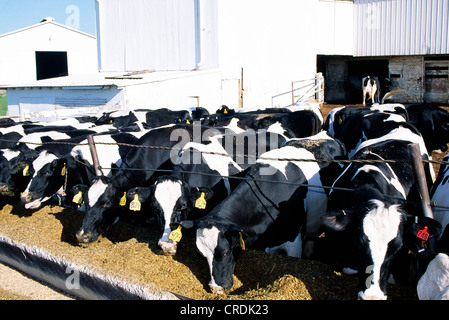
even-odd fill
[[[85,215],[76,239],[81,245],[97,241],[110,226],[117,222],[118,204],[123,194],[119,194],[111,179],[100,176],[93,180],[84,194]]]

